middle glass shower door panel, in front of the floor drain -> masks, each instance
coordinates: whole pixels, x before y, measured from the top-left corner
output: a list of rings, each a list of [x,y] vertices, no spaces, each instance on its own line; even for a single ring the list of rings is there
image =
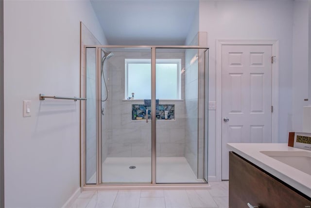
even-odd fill
[[[151,49],[100,51],[102,182],[151,183]]]

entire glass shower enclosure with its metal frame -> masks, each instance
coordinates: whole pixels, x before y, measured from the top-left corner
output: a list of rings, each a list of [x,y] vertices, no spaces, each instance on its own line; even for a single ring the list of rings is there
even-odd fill
[[[198,46],[85,46],[82,185],[207,183]]]

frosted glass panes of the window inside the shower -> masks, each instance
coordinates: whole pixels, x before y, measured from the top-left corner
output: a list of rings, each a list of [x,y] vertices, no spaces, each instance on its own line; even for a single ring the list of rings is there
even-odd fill
[[[156,59],[156,97],[181,99],[181,59]],[[151,98],[151,59],[125,59],[125,99]]]

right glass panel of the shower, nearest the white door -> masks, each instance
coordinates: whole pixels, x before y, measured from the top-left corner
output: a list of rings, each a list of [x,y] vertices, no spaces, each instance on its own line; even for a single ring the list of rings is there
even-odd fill
[[[156,183],[206,183],[204,51],[156,49]]]

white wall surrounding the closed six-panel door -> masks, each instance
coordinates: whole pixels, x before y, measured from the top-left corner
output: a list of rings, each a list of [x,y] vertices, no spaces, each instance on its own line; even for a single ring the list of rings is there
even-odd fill
[[[209,101],[216,100],[216,39],[279,40],[279,142],[292,130],[292,1],[200,1],[199,31],[207,32]],[[221,118],[217,118],[221,119]],[[208,175],[216,180],[216,114],[209,111]],[[221,151],[221,150],[217,150]],[[218,161],[218,160],[217,160]],[[220,179],[220,178],[218,178]]]

